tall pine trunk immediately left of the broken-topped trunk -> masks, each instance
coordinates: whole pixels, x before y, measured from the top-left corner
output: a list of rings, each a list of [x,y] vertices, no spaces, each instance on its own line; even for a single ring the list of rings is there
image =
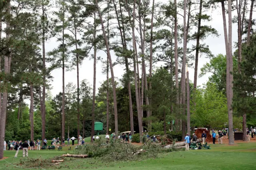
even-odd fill
[[[182,112],[183,112],[183,115],[185,116],[186,115],[186,107],[185,107],[185,97],[186,97],[186,87],[185,87],[185,84],[186,84],[186,79],[185,79],[185,74],[186,74],[186,49],[187,49],[187,38],[186,38],[186,1],[184,1],[184,20],[183,20],[183,30],[184,30],[184,33],[183,33],[183,59],[182,59],[182,74],[181,74],[181,92],[182,92],[182,100],[180,99],[180,101],[182,101]],[[186,122],[184,120],[182,120],[182,138],[185,138],[186,136]]]

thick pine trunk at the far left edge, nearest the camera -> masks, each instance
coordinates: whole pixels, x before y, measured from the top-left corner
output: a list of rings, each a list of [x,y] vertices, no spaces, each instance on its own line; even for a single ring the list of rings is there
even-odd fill
[[[11,3],[10,0],[7,1],[7,15],[10,15]],[[6,29],[10,28],[10,24],[6,23]],[[8,42],[10,38],[9,34],[6,34],[6,41]],[[9,74],[9,60],[10,56],[4,56],[4,73]],[[2,111],[0,117],[0,148],[4,148],[4,137],[5,137],[5,125],[6,125],[6,107],[7,107],[7,98],[8,98],[8,82],[4,79],[3,83],[3,99],[2,99]],[[0,159],[4,157],[4,150],[0,149]]]

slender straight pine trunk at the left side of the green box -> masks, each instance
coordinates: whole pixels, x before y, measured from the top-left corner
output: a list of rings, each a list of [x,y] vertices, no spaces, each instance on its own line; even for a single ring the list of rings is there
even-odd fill
[[[99,13],[100,13],[100,11],[99,11]],[[94,12],[94,35],[93,35],[93,39],[96,40],[96,12]],[[96,93],[96,61],[97,61],[96,52],[97,52],[97,47],[96,47],[96,44],[94,43],[91,142],[93,142],[92,138],[94,136],[94,111],[95,111],[95,93]]]

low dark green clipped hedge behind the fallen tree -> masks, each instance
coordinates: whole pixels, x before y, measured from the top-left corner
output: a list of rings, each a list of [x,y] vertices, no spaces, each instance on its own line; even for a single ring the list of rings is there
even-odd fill
[[[167,135],[170,135],[169,138],[177,138],[178,141],[181,141],[182,140],[182,132],[166,132]],[[146,134],[144,134],[146,135]],[[149,136],[153,136],[153,135],[164,135],[164,131],[160,131],[160,132],[148,132],[148,135]],[[145,136],[144,136],[145,137]],[[133,142],[137,142],[139,143],[140,142],[140,134],[139,133],[136,133],[132,136],[132,141]]]

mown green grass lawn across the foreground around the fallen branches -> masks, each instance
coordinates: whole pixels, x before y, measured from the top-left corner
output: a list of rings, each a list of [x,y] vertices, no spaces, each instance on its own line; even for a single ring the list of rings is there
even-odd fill
[[[61,169],[85,169],[97,168],[106,170],[117,169],[133,169],[133,170],[179,170],[179,169],[215,169],[215,170],[231,170],[231,169],[255,169],[254,160],[256,156],[256,142],[240,143],[235,146],[226,144],[210,144],[211,150],[189,150],[180,152],[169,152],[159,154],[156,159],[148,159],[143,161],[130,162],[102,162],[100,159],[93,158],[70,158],[61,163]],[[72,147],[72,149],[74,146]],[[29,151],[29,157],[50,158],[68,152],[68,147],[64,147],[63,151],[57,150],[40,150]],[[70,152],[70,151],[69,151]],[[71,151],[72,152],[72,151]],[[11,164],[19,163],[22,158],[22,151],[19,152],[18,158],[14,158],[14,151],[4,151],[4,156],[9,157],[6,161]],[[6,161],[0,161],[0,170],[21,169],[15,168]],[[53,168],[51,168],[53,169]]]

